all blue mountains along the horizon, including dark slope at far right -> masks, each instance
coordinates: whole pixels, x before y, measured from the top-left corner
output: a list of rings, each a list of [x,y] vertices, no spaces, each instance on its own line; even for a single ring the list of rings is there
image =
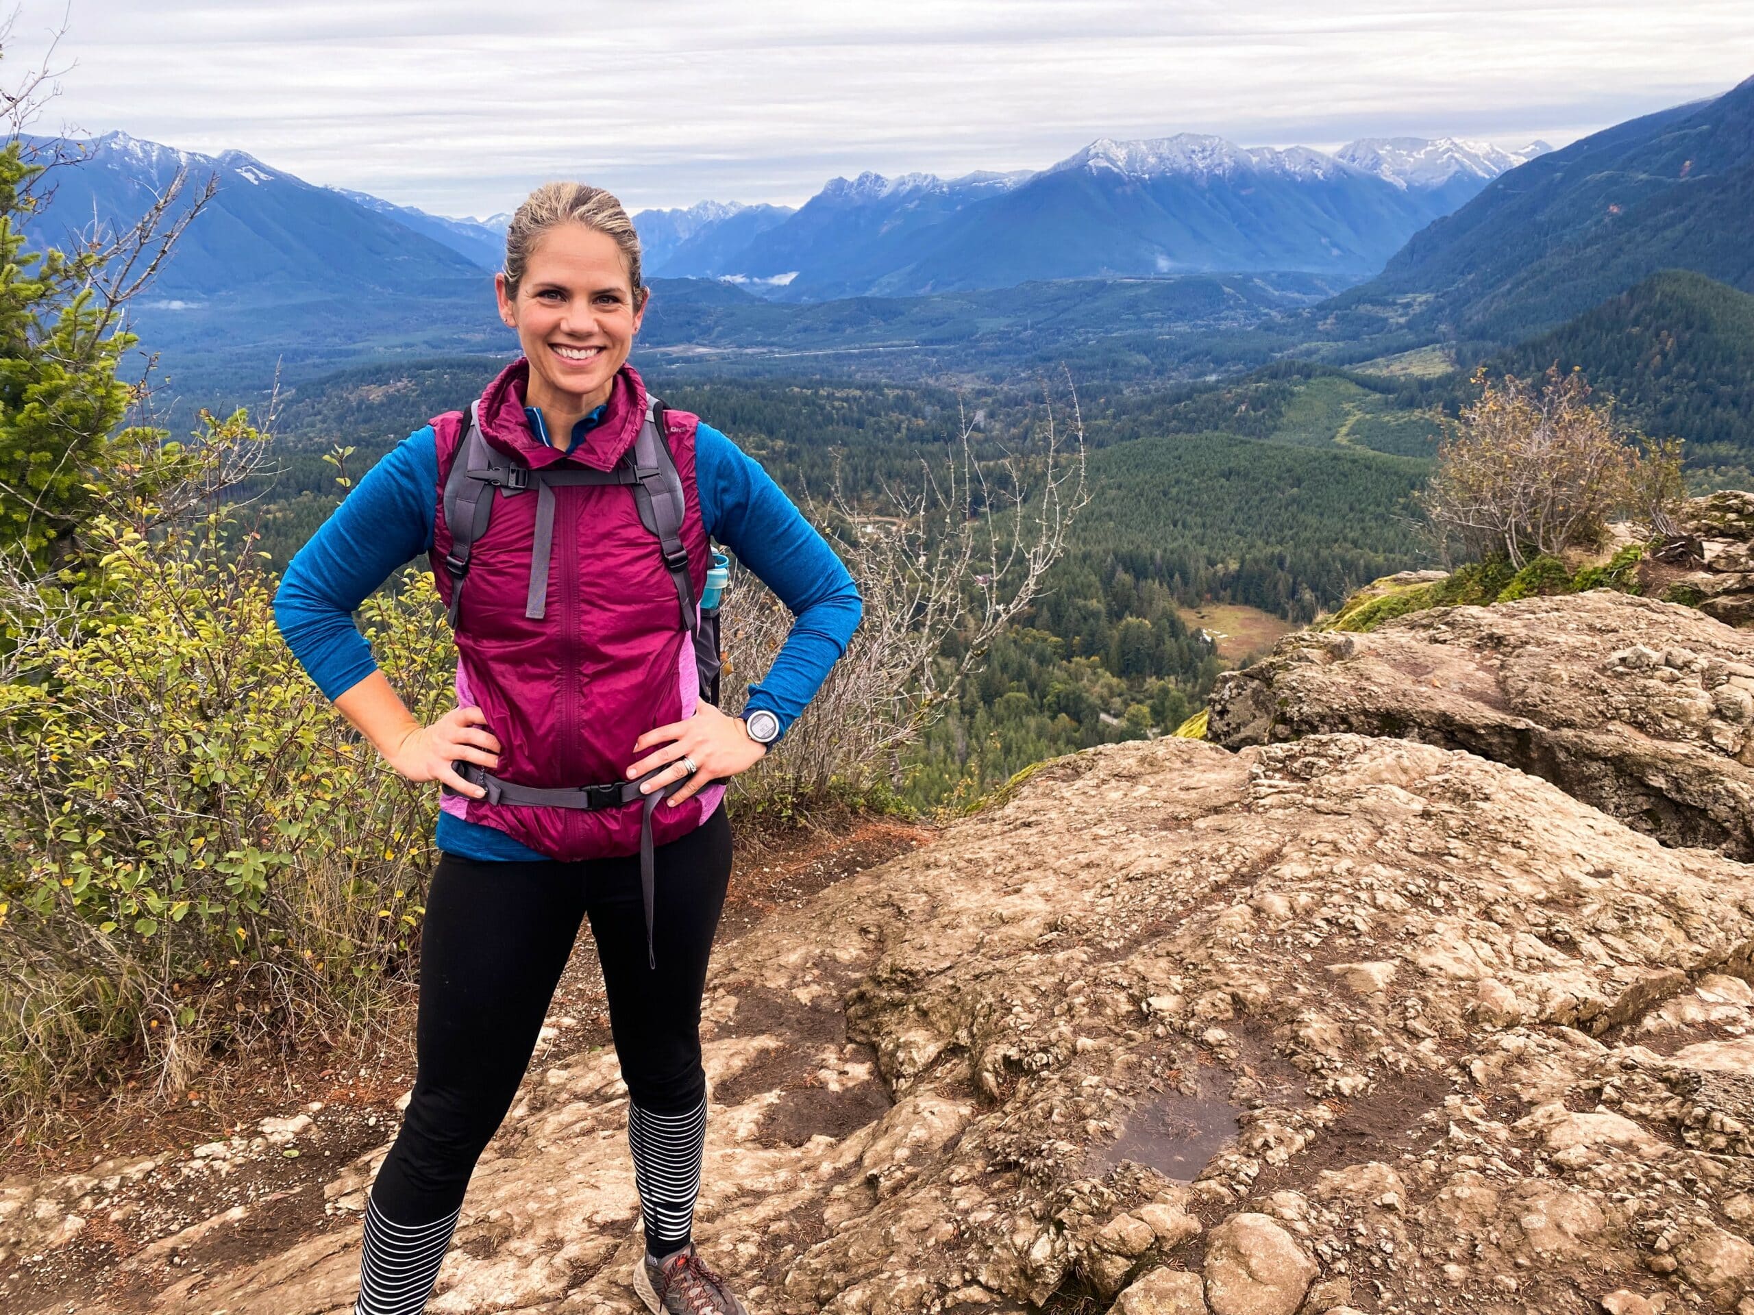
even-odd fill
[[[509,345],[484,288],[505,216],[431,216],[242,153],[196,156],[121,133],[81,151],[32,219],[39,244],[130,223],[179,170],[217,181],[137,303],[144,340],[181,361],[260,370]],[[1028,302],[1049,286],[1068,305],[1086,288],[1114,317],[1107,351],[1137,368],[1310,349],[1363,359],[1428,342],[1486,359],[1661,270],[1754,291],[1754,79],[1561,151],[1100,139],[1037,172],[859,174],[796,210],[702,202],[635,223],[645,277],[661,284],[647,347],[679,363],[700,347],[719,363],[766,352],[774,368],[823,351],[847,363],[914,352],[928,373],[945,352],[958,368],[989,356],[998,368],[1016,358],[998,351],[1012,330],[991,330],[1017,312],[1005,302],[995,319],[989,293]],[[1142,298],[1126,289],[1138,279],[1180,286]],[[1131,321],[1140,307],[1149,328]],[[1021,316],[1031,352],[1056,351],[1051,323],[1072,323],[1058,316]],[[1079,317],[1065,347],[1087,352],[1100,316]],[[1205,345],[1189,351],[1175,335],[1196,326]]]

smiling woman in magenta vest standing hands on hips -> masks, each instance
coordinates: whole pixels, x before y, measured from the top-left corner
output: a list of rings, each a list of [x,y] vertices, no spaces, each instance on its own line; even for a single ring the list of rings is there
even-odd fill
[[[635,1290],[652,1311],[744,1315],[693,1241],[700,1003],[731,870],[723,782],[816,694],[859,596],[761,466],[658,405],[626,363],[649,289],[612,195],[575,182],[531,193],[495,286],[523,356],[468,412],[379,461],[275,596],[281,631],[337,710],[396,771],[444,791],[414,1092],[367,1203],[356,1310],[424,1308],[475,1159],[589,919],[628,1087],[645,1231]],[[714,538],[795,617],[740,717],[707,698]],[[431,726],[353,624],[421,552],[458,647],[458,707]]]

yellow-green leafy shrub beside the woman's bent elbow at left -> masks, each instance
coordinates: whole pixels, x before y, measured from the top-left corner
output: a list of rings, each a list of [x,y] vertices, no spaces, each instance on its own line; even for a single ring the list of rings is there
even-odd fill
[[[144,1054],[179,1087],[240,1033],[347,1029],[403,964],[435,794],[333,714],[275,580],[209,517],[98,519],[77,605],[14,582],[0,682],[0,1113]],[[431,577],[361,608],[423,721],[451,700]]]

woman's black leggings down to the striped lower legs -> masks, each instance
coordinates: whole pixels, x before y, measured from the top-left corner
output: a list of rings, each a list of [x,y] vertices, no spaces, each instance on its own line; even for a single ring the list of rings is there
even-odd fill
[[[707,1092],[700,998],[731,873],[724,805],[660,845],[645,959],[638,856],[479,863],[446,854],[421,929],[419,1068],[372,1203],[402,1226],[444,1219],[517,1094],[582,917],[591,919],[621,1077],[638,1110],[682,1115]]]

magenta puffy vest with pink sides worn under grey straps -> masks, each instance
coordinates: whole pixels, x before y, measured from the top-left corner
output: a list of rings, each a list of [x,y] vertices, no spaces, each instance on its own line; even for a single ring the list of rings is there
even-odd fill
[[[565,456],[540,442],[524,419],[530,365],[517,359],[481,394],[482,437],[531,468],[574,461],[610,470],[633,445],[645,417],[645,384],[623,366],[602,423]],[[696,416],[670,410],[667,438],[682,479],[688,512],[682,544],[700,598],[710,552],[695,486]],[[446,605],[451,551],[444,486],[463,437],[461,412],[433,421],[438,438],[438,486],[433,519],[433,579]],[[498,778],[519,785],[568,787],[623,780],[635,759],[633,742],[693,715],[700,675],[688,629],[677,615],[677,586],[665,570],[652,533],[640,522],[624,486],[563,486],[554,491],[554,545],[547,579],[547,615],[524,615],[530,552],[535,538],[533,496],[495,494],[488,531],[475,540],[468,587],[456,619],[456,698],[486,714],[500,740]],[[677,808],[652,815],[654,843],[700,826],[719,805],[723,785],[703,789]],[[491,805],[446,794],[446,812],[503,831],[554,859],[635,854],[640,849],[637,803],[602,812]]]

